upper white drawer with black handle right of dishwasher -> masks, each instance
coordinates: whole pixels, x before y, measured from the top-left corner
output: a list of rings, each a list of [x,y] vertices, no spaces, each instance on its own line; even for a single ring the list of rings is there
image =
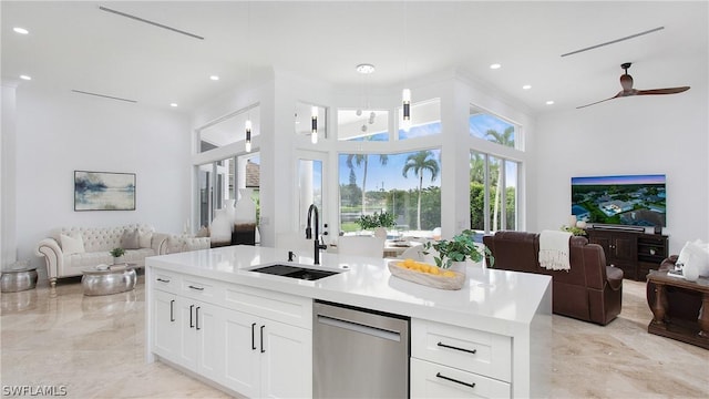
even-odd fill
[[[434,321],[411,320],[411,356],[510,382],[512,338]]]

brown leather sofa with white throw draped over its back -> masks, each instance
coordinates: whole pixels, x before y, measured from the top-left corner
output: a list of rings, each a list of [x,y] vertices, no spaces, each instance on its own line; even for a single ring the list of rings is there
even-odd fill
[[[540,266],[540,234],[496,232],[483,236],[496,269],[552,276],[552,307],[557,315],[607,325],[620,314],[623,270],[606,266],[603,247],[585,237],[569,239],[571,270]]]

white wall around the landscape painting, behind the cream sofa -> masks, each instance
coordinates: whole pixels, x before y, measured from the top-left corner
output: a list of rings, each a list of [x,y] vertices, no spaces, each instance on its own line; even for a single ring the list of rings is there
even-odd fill
[[[182,232],[192,195],[189,127],[188,116],[172,110],[18,88],[18,257],[44,274],[34,246],[61,226],[146,223]],[[74,212],[76,170],[135,173],[136,209]]]

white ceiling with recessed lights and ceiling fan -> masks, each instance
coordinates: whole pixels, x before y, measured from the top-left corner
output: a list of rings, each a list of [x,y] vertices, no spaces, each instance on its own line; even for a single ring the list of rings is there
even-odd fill
[[[370,88],[455,68],[534,112],[615,95],[623,62],[634,63],[636,89],[707,85],[707,1],[2,1],[1,12],[3,79],[182,111],[270,66],[350,89],[362,85],[359,63],[377,66]]]

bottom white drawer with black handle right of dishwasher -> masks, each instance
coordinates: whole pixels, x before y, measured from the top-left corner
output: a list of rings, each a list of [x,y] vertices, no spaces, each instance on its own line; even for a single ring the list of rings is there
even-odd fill
[[[508,382],[411,359],[411,398],[511,398]]]

